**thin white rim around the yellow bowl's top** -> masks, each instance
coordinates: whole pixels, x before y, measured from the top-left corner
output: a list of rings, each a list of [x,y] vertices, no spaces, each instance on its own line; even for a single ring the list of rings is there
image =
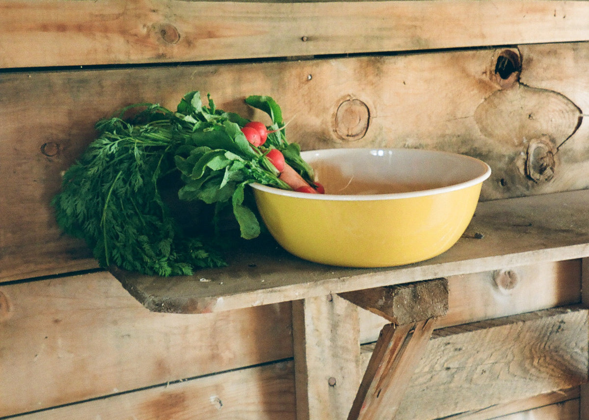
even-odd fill
[[[340,149],[317,149],[302,152],[301,155],[312,154],[314,152],[340,150]],[[421,189],[419,191],[408,191],[408,192],[392,192],[388,194],[309,194],[308,192],[296,192],[288,189],[276,188],[274,186],[259,184],[258,182],[252,182],[250,185],[259,189],[260,191],[269,192],[270,194],[282,195],[287,197],[296,198],[307,198],[314,200],[326,200],[326,201],[376,201],[376,200],[391,200],[391,199],[402,199],[402,198],[414,198],[426,195],[444,194],[445,192],[457,191],[459,189],[468,188],[469,186],[482,184],[485,179],[491,176],[491,167],[481,161],[481,159],[474,158],[468,155],[462,155],[454,152],[438,151],[432,149],[411,149],[411,148],[353,148],[350,150],[363,150],[363,151],[425,151],[431,154],[443,154],[456,156],[461,159],[470,160],[475,164],[481,166],[481,175],[475,178],[469,179],[465,182],[459,182],[457,184],[446,185],[440,188]]]

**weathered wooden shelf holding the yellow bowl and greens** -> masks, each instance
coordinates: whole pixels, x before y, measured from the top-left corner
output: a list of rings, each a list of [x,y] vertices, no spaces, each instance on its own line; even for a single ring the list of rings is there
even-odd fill
[[[244,249],[226,268],[194,276],[111,272],[151,311],[198,314],[585,256],[589,190],[481,202],[451,249],[411,265],[326,266],[303,261],[272,244],[255,252]]]

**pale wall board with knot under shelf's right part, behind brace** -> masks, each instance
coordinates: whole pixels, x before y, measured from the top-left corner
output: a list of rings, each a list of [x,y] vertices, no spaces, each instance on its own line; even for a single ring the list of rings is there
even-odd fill
[[[585,288],[583,288],[585,291]],[[468,324],[581,302],[581,260],[505,266],[448,277],[448,313],[438,327]],[[387,321],[359,311],[360,342],[374,342]]]

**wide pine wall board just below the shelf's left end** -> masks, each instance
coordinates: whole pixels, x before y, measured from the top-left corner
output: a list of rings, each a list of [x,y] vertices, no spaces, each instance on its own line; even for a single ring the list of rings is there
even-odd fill
[[[290,328],[290,304],[154,314],[108,272],[0,285],[0,417],[290,358]]]

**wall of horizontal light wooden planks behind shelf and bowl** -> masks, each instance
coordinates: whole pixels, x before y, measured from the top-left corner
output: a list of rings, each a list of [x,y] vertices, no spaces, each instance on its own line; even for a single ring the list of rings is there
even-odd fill
[[[0,1],[0,418],[295,418],[289,303],[152,314],[55,226],[97,119],[194,89],[257,118],[243,98],[267,94],[305,149],[475,155],[483,199],[587,188],[588,21],[583,1]],[[444,325],[578,303],[580,266],[449,279]],[[362,342],[381,323],[360,311]],[[577,419],[575,391],[468,418]]]

